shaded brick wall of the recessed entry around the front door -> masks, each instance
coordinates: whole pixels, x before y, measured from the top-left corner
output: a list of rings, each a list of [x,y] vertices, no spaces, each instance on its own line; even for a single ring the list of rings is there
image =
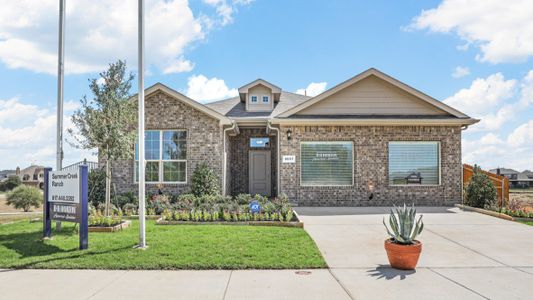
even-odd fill
[[[277,137],[269,136],[266,133],[266,128],[241,128],[239,134],[236,136],[230,136],[230,180],[231,180],[231,195],[238,195],[240,193],[249,193],[249,173],[248,173],[248,158],[250,149],[257,150],[270,150],[270,163],[271,163],[271,175],[270,180],[272,182],[271,195],[276,195],[276,182],[277,182]],[[252,137],[268,137],[270,138],[269,147],[265,148],[250,148],[250,138]]]

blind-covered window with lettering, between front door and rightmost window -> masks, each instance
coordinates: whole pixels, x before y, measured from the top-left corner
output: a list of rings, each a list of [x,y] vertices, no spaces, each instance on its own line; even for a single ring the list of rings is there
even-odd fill
[[[352,142],[302,142],[300,163],[301,185],[353,185]]]

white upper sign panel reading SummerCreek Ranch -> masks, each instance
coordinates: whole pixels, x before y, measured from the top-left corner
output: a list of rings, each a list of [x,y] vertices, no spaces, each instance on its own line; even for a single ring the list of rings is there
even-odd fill
[[[54,171],[48,176],[49,202],[80,203],[79,170]]]

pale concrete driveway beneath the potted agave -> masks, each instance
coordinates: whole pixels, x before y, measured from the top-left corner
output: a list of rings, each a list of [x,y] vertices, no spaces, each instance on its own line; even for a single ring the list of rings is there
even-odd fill
[[[352,299],[533,299],[533,226],[458,208],[418,211],[418,268],[397,271],[383,248],[388,208],[297,208]]]

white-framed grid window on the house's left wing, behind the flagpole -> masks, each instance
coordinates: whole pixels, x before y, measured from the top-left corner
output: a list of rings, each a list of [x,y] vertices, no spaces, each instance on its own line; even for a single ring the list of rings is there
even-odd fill
[[[146,130],[144,133],[146,182],[187,181],[187,131]],[[135,146],[135,181],[139,176],[139,153]]]

